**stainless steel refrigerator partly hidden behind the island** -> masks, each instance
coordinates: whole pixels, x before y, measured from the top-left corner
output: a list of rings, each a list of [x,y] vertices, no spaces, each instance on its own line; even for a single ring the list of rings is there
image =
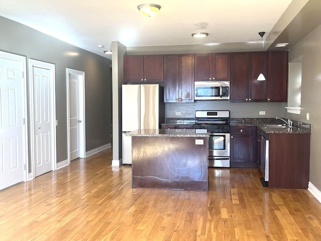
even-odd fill
[[[131,164],[131,137],[138,129],[161,129],[165,123],[164,87],[158,84],[123,84],[122,163]]]

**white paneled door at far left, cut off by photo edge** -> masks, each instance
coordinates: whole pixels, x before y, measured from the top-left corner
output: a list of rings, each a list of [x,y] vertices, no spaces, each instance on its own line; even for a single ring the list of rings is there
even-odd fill
[[[0,190],[25,180],[26,59],[0,52]]]

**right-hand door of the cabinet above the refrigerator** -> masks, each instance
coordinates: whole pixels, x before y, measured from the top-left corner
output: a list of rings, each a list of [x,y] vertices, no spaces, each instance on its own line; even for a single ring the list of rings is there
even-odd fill
[[[144,82],[164,82],[164,55],[144,55]]]

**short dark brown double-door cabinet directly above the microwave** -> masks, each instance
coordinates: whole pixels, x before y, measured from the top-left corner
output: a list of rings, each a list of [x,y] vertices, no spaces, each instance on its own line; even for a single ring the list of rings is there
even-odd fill
[[[230,80],[230,53],[195,54],[195,81]]]

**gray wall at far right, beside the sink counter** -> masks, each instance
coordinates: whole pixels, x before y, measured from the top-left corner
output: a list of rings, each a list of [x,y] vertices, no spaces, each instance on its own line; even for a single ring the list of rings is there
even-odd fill
[[[289,118],[311,124],[310,182],[321,190],[321,25],[289,50],[289,62],[302,56],[301,113]],[[310,119],[306,120],[306,113]]]

